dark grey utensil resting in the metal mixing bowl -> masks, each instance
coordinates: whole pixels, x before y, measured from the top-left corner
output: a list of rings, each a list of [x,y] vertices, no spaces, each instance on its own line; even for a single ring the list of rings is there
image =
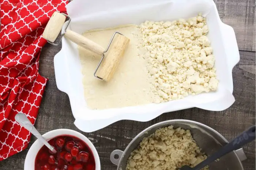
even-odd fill
[[[241,133],[238,137],[234,138],[231,142],[227,143],[213,155],[208,157],[203,162],[197,164],[195,167],[191,168],[187,165],[182,166],[180,170],[200,170],[203,167],[209,165],[211,162],[217,160],[218,158],[230,153],[233,150],[240,149],[245,144],[253,141],[255,139],[255,125],[250,127]]]

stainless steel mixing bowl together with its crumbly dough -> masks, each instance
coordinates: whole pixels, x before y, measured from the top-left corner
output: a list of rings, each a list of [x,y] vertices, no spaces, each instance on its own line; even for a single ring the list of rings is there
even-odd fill
[[[114,150],[110,160],[117,170],[177,170],[191,167],[215,153],[228,141],[205,124],[167,120],[139,133],[124,151]],[[244,170],[243,149],[233,151],[202,170]]]

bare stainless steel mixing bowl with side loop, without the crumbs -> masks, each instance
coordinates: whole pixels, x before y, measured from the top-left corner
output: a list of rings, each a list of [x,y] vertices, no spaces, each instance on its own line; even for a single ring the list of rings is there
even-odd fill
[[[202,123],[181,119],[167,120],[154,124],[153,126],[143,130],[129,143],[124,151],[114,150],[110,154],[111,162],[117,165],[117,170],[125,170],[129,155],[134,149],[136,149],[140,141],[142,141],[144,137],[154,133],[155,130],[170,125],[173,125],[174,128],[181,127],[183,129],[189,129],[193,138],[197,142],[197,145],[206,155],[211,155],[228,142],[217,131]],[[114,158],[114,155],[118,155],[118,158]],[[219,161],[211,163],[210,170],[244,170],[241,161],[244,161],[245,159],[246,156],[243,149],[239,149],[225,155],[220,158]]]

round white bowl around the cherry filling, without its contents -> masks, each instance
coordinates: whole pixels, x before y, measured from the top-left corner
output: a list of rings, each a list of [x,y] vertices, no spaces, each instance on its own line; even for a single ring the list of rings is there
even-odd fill
[[[95,169],[100,170],[101,169],[101,163],[99,162],[99,155],[97,153],[97,150],[95,149],[93,143],[86,138],[83,134],[70,130],[70,129],[56,129],[49,131],[42,135],[46,141],[49,141],[52,138],[55,138],[60,135],[70,135],[79,138],[83,142],[89,146],[91,152],[93,153],[94,160],[95,160]],[[27,153],[25,163],[24,163],[24,170],[34,170],[35,169],[35,157],[37,156],[38,151],[41,149],[43,144],[37,139],[33,145],[30,147],[29,152]]]

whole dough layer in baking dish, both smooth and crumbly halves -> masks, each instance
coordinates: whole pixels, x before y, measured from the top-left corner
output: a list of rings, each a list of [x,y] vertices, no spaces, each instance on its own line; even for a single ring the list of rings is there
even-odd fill
[[[106,48],[114,31],[123,33],[130,43],[110,82],[93,76],[101,56],[79,47],[89,108],[161,103],[217,90],[215,57],[201,14],[188,20],[91,30],[84,36]]]

